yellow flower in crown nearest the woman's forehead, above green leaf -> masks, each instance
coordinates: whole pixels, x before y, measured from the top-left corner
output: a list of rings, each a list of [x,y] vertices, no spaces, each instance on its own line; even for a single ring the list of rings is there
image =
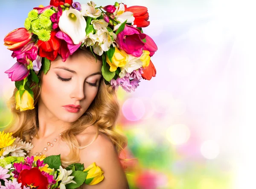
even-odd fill
[[[127,62],[127,54],[125,53],[125,51],[119,51],[119,49],[116,47],[115,49],[115,53],[112,57],[112,63],[110,62],[107,56],[107,62],[110,65],[109,71],[116,71],[117,67],[124,67]]]

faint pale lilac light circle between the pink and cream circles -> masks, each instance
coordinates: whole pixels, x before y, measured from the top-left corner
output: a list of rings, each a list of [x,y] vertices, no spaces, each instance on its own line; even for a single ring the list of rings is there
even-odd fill
[[[152,95],[152,105],[154,111],[158,113],[164,113],[171,107],[173,98],[172,94],[166,90],[157,90]]]

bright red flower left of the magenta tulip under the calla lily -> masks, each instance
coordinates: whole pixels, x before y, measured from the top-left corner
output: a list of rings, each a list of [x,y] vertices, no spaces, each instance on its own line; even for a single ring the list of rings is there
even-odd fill
[[[51,38],[49,41],[38,40],[38,54],[41,57],[46,57],[49,60],[55,60],[58,56],[58,50],[61,45],[61,39],[58,39],[55,34],[58,31],[53,30],[51,32]]]

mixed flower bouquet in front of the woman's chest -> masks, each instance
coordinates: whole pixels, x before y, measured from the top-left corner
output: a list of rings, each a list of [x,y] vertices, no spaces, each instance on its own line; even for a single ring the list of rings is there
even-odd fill
[[[76,189],[104,179],[95,162],[86,169],[79,163],[63,168],[60,155],[24,157],[32,148],[12,133],[0,132],[0,189]]]

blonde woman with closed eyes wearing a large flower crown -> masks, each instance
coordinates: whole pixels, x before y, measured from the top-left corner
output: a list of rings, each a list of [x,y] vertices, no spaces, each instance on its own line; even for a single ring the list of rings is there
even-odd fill
[[[61,154],[64,167],[95,162],[104,176],[82,188],[128,189],[119,159],[127,138],[114,130],[115,90],[131,92],[155,76],[150,56],[157,46],[136,28],[149,25],[147,9],[69,1],[34,8],[25,28],[4,39],[17,58],[5,72],[16,86],[8,132],[32,142],[28,155]]]

